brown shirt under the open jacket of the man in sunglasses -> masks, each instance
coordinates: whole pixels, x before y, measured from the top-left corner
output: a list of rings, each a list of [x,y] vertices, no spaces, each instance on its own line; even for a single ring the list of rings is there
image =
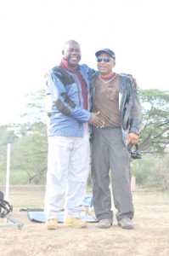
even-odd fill
[[[98,77],[95,84],[93,112],[100,112],[100,119],[104,120],[104,127],[120,127],[119,112],[119,84],[120,76],[108,81]]]

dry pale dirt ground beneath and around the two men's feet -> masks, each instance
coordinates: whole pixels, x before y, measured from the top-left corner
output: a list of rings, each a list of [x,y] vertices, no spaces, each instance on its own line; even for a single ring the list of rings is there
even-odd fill
[[[15,226],[1,228],[2,256],[169,255],[167,192],[132,192],[135,207],[134,230],[122,230],[115,219],[113,226],[107,230],[99,229],[97,223],[88,223],[86,229],[59,224],[58,230],[46,230],[44,224],[31,222],[27,218],[27,212],[20,212],[20,208],[42,207],[43,196],[44,188],[40,186],[11,188],[8,201],[13,204],[14,211],[10,216],[24,226],[21,230]],[[4,218],[0,218],[0,224],[4,224]]]

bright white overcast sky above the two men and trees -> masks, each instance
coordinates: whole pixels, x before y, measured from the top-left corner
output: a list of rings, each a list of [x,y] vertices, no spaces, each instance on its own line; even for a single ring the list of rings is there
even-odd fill
[[[81,44],[82,61],[115,51],[115,72],[132,73],[141,89],[169,90],[168,0],[1,0],[0,125],[17,122],[25,95],[42,89],[66,40]]]

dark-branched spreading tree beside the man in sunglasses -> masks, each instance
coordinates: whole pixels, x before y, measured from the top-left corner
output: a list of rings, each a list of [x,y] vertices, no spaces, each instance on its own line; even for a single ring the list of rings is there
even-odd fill
[[[169,145],[169,91],[141,90],[143,107],[139,148],[143,154],[164,154]]]

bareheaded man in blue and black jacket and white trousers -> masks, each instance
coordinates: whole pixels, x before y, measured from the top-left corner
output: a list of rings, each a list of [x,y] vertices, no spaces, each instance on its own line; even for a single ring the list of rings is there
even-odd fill
[[[62,50],[59,66],[48,73],[52,111],[48,131],[48,173],[45,195],[46,227],[57,229],[65,204],[64,224],[86,227],[81,204],[86,194],[89,170],[89,124],[102,127],[99,113],[90,113],[89,79],[95,71],[79,65],[80,45],[70,40]]]

